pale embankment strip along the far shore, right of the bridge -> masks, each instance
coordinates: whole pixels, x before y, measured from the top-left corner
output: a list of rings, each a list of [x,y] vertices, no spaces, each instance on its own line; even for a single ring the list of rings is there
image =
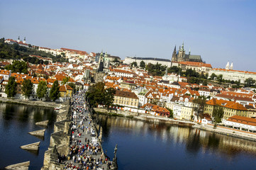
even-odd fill
[[[165,124],[171,124],[171,125],[178,125],[178,126],[182,126],[182,127],[197,128],[200,130],[206,130],[206,131],[218,133],[221,135],[238,137],[240,139],[251,140],[251,141],[256,142],[256,133],[246,132],[243,130],[236,130],[236,129],[227,128],[227,127],[223,127],[223,126],[217,126],[216,129],[213,129],[213,125],[211,125],[211,124],[208,124],[208,125],[198,124],[198,123],[194,123],[194,122],[189,122],[187,120],[174,120],[171,118],[165,118],[165,117],[157,116],[157,115],[139,114],[139,113],[132,113],[132,112],[127,112],[127,111],[111,112],[104,108],[94,108],[94,111],[96,111],[100,114],[133,118],[135,120],[143,120],[143,121],[147,121],[147,122],[151,122],[151,123],[165,123]]]

